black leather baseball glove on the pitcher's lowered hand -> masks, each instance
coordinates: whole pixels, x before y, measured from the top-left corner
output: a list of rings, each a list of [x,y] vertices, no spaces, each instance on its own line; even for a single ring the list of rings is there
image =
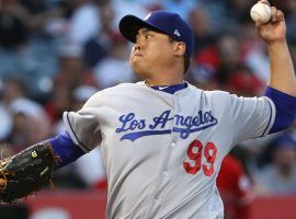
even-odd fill
[[[0,203],[12,203],[50,184],[54,163],[49,142],[0,160]]]

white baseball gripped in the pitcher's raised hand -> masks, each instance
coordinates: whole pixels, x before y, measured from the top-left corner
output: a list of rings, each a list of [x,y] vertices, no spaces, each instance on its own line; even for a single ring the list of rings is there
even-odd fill
[[[258,2],[252,7],[250,15],[254,22],[261,20],[263,23],[266,23],[271,19],[271,7],[265,3]]]

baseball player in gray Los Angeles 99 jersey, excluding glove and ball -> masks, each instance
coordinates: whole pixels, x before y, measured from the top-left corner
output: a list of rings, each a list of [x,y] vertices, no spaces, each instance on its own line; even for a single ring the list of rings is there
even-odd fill
[[[255,25],[271,80],[264,96],[238,97],[183,80],[194,42],[180,15],[124,16],[119,31],[135,44],[129,61],[144,81],[105,89],[80,111],[65,112],[66,131],[45,141],[59,158],[55,168],[100,145],[106,218],[223,218],[216,177],[224,157],[240,141],[287,128],[296,113],[284,15],[273,7],[271,21]]]

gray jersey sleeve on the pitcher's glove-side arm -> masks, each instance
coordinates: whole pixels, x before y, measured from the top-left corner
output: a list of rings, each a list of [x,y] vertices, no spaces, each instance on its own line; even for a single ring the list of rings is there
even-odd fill
[[[65,112],[62,115],[66,130],[72,141],[84,152],[95,148],[102,140],[100,128],[100,105],[98,96],[92,96],[78,112]]]

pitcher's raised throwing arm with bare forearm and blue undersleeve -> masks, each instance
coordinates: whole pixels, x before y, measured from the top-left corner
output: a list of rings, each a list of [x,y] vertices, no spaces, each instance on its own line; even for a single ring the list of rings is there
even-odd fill
[[[261,1],[264,3],[266,0]],[[284,13],[271,7],[267,23],[257,22],[258,35],[266,43],[270,56],[270,81],[264,96],[275,106],[275,120],[269,134],[288,128],[296,115],[296,78],[286,42]]]

